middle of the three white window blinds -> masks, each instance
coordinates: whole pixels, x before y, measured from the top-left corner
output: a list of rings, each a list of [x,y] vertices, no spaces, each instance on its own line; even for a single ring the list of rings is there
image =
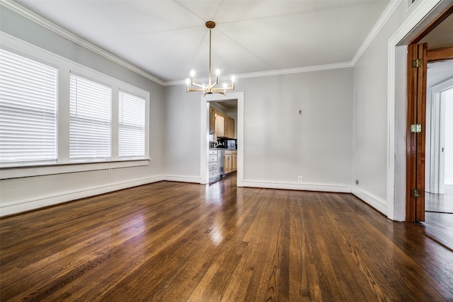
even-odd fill
[[[71,74],[69,158],[110,158],[112,88]]]

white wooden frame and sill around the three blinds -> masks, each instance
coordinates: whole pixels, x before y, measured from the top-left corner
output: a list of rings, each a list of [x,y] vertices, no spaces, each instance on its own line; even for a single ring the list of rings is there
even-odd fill
[[[6,33],[0,32],[0,39],[0,47],[4,50],[58,69],[57,161],[52,163],[2,164],[0,166],[1,180],[149,165],[149,161],[151,160],[149,157],[149,91],[102,74],[47,50],[42,50],[40,47],[31,45]],[[110,158],[88,158],[85,161],[79,161],[78,159],[71,160],[69,158],[69,78],[71,73],[98,83],[103,83],[112,88]],[[143,158],[120,158],[118,156],[118,95],[120,90],[145,99],[145,154]]]

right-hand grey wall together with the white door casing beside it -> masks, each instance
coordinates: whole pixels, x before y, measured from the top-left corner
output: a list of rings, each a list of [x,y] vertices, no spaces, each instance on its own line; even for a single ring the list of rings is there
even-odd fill
[[[354,67],[352,193],[390,219],[404,220],[406,47],[449,1],[401,1]],[[437,7],[436,7],[437,6]],[[429,16],[428,16],[429,15]]]

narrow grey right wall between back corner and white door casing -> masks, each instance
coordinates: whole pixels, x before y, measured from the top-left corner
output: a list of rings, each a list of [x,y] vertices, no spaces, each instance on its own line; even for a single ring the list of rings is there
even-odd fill
[[[354,66],[352,192],[384,214],[388,211],[388,41],[404,18],[405,5],[400,5]]]

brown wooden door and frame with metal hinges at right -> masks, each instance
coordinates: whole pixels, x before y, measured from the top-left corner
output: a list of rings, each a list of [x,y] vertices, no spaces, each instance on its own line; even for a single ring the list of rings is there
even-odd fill
[[[427,89],[427,67],[428,63],[453,59],[453,39],[452,37],[446,38],[449,37],[449,28],[453,26],[452,13],[453,5],[450,5],[439,13],[428,26],[422,28],[418,34],[415,34],[415,37],[408,42],[406,221],[425,221],[425,187],[428,187],[428,191],[431,187],[431,182],[426,182],[425,180],[425,159],[428,159],[428,161],[432,159],[432,156],[426,158],[428,154],[426,152],[427,149],[425,149],[425,139],[428,135],[425,133],[428,133],[427,130],[430,129],[430,124],[427,125],[425,120],[427,117],[431,117],[434,118],[434,121],[438,121],[440,119],[436,119],[435,114],[437,113],[437,116],[441,116],[439,110],[432,110],[432,115],[430,116],[427,114],[427,109],[430,109],[426,106],[427,100],[429,100],[429,98],[427,98],[427,93],[429,93]],[[430,95],[428,95],[428,97],[429,96]],[[436,104],[437,103],[435,102],[432,103],[432,105]],[[436,129],[436,127],[434,128]],[[440,127],[438,127],[438,129],[440,129]],[[437,137],[431,136],[431,142],[432,139],[436,138],[439,140],[441,137],[440,135],[437,135]],[[432,145],[433,144],[431,144],[431,146]],[[430,144],[427,144],[427,146],[430,146]],[[431,149],[428,151],[431,151]],[[437,153],[433,151],[432,155],[435,156]],[[443,160],[443,156],[444,154],[440,153],[439,158],[437,158],[438,163]],[[430,167],[432,167],[432,165],[430,165]],[[439,169],[443,169],[443,167],[443,165],[437,164],[437,172],[435,173],[435,169],[432,169],[428,175],[440,175]]]

